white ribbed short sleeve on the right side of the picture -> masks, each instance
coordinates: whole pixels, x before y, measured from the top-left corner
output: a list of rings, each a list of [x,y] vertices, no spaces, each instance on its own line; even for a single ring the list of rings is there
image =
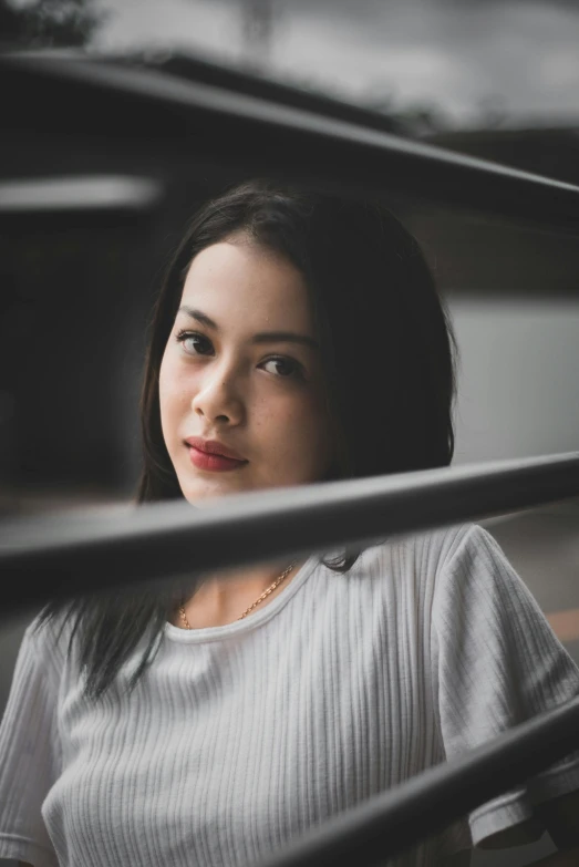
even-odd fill
[[[579,694],[579,670],[495,539],[471,525],[442,567],[433,601],[433,668],[447,758]],[[468,817],[473,844],[528,822],[535,806],[579,789],[579,754]]]

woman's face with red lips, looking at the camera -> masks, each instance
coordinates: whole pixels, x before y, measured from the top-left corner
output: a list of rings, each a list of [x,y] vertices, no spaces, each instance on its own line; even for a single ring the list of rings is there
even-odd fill
[[[245,236],[201,250],[165,349],[159,398],[190,503],[322,478],[330,425],[301,273]],[[213,446],[238,460],[209,456]]]

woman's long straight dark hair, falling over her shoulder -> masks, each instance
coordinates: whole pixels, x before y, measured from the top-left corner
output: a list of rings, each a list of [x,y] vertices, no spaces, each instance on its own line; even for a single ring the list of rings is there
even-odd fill
[[[200,250],[245,231],[304,276],[322,349],[338,461],[331,478],[445,466],[454,451],[455,343],[422,251],[378,203],[250,180],[207,202],[175,251],[157,297],[141,402],[139,503],[183,496],[161,427],[158,373],[183,285]],[[360,549],[324,561],[344,572]],[[80,640],[86,693],[99,698],[137,649],[136,683],[177,600],[164,589],[77,599],[64,609]],[[41,622],[63,613],[49,605]]]

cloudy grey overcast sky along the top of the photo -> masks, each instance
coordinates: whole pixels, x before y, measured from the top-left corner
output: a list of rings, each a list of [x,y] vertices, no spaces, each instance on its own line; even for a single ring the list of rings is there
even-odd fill
[[[247,59],[242,0],[96,0],[100,49]],[[425,103],[458,125],[579,125],[579,3],[560,0],[272,0],[266,68],[354,101]]]

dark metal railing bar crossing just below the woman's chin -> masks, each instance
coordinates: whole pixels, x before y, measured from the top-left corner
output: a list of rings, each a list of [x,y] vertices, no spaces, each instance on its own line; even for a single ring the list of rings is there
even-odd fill
[[[579,453],[0,525],[2,611],[121,585],[373,544],[579,495]],[[23,580],[25,579],[25,580]]]

